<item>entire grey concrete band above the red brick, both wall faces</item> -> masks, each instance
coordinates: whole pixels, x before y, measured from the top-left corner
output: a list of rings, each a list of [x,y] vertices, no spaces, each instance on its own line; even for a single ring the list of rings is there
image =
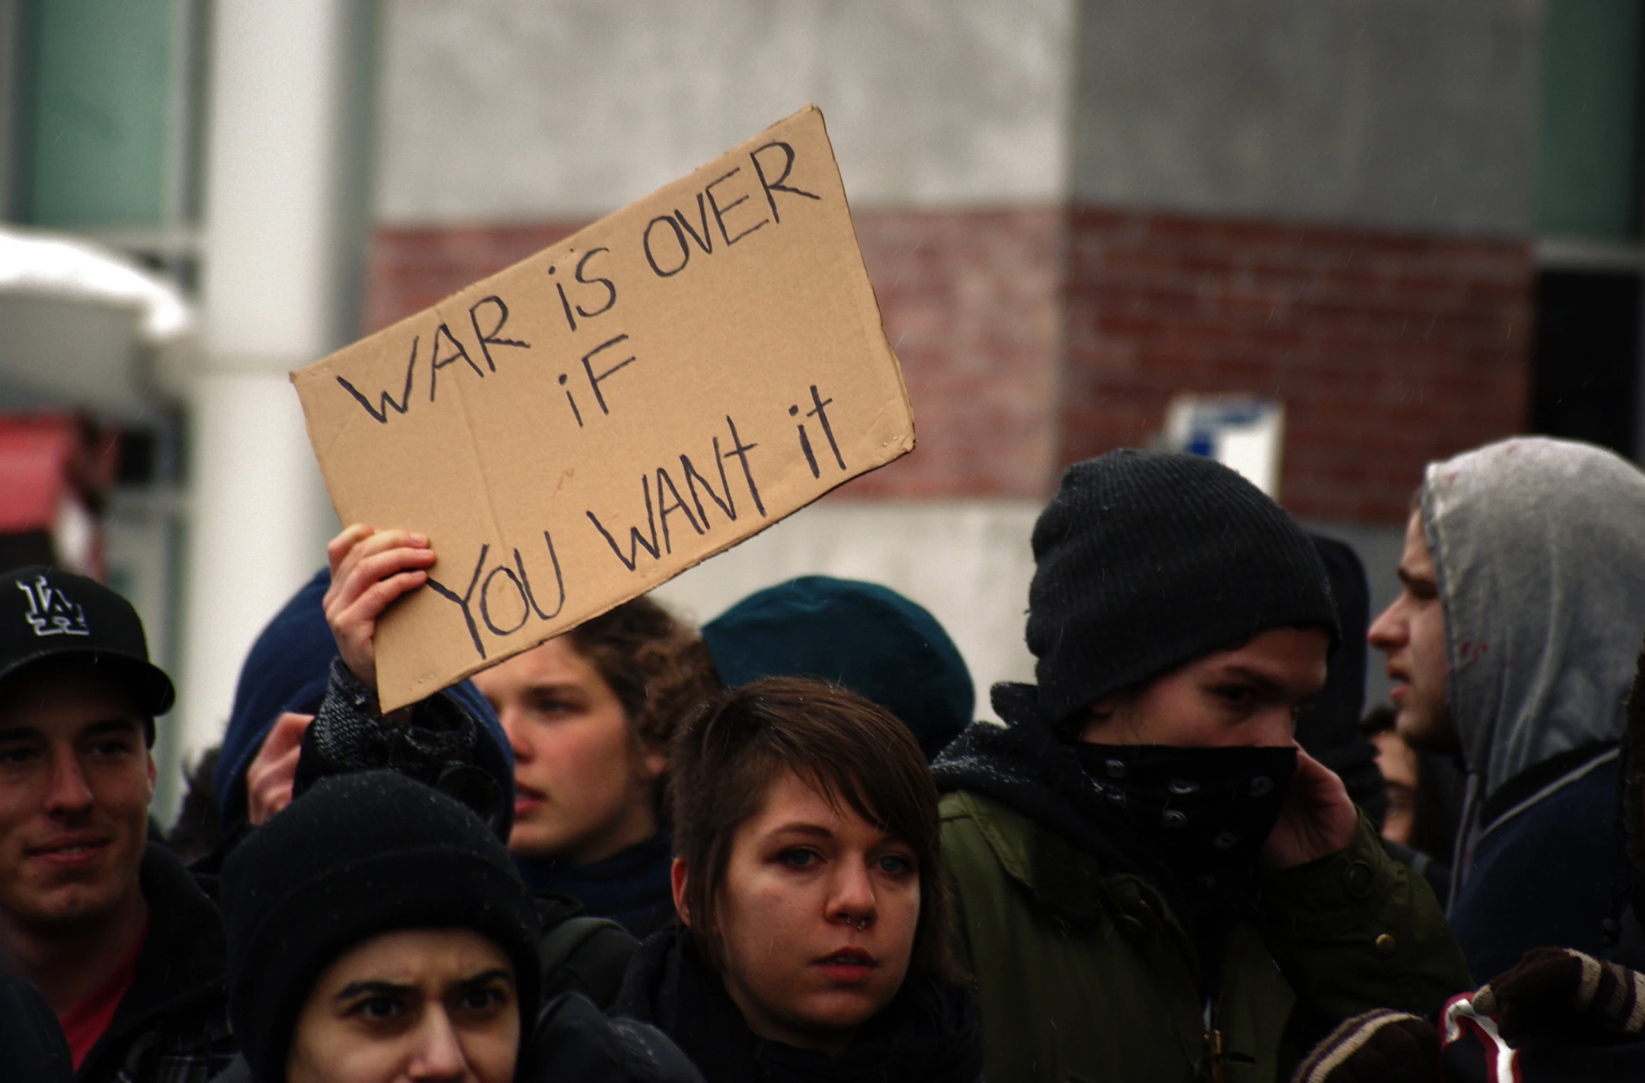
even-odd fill
[[[857,206],[1530,229],[1541,0],[387,0],[393,224],[591,217],[808,100]]]

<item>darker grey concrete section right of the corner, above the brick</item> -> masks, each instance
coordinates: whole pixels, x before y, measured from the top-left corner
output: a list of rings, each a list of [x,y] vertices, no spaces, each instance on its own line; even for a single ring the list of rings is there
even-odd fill
[[[1079,201],[1527,235],[1538,0],[1082,0]]]

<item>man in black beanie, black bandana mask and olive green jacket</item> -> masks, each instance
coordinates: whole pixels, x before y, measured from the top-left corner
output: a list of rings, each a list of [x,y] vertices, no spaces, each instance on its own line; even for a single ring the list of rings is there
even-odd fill
[[[1295,741],[1339,627],[1308,535],[1207,459],[1076,464],[1035,525],[1038,685],[938,760],[990,1080],[1277,1080],[1469,984],[1433,892]]]

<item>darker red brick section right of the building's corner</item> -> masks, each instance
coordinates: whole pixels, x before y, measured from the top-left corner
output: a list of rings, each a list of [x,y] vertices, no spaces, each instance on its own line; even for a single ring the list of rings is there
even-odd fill
[[[1138,446],[1176,392],[1285,402],[1280,500],[1403,522],[1430,459],[1522,431],[1522,242],[1079,209],[1059,459]]]

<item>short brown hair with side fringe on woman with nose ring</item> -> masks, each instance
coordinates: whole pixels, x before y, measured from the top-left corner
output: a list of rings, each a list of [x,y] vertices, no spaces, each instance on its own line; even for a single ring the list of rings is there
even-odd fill
[[[783,772],[913,848],[920,925],[910,973],[962,981],[949,950],[938,792],[920,744],[869,700],[826,681],[786,676],[725,690],[674,739],[674,856],[686,862],[684,910],[704,958],[721,964],[716,913],[732,838],[758,815]]]

